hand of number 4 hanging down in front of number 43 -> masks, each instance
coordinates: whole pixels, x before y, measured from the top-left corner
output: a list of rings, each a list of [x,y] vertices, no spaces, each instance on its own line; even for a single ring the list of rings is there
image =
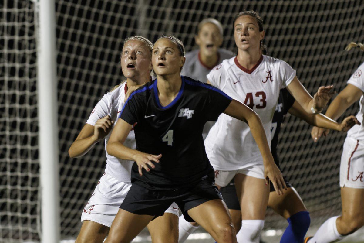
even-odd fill
[[[269,185],[270,180],[270,182],[273,183],[274,190],[276,190],[277,194],[283,195],[283,189],[287,189],[287,186],[284,182],[281,171],[278,169],[274,161],[264,163],[264,177],[266,185]]]

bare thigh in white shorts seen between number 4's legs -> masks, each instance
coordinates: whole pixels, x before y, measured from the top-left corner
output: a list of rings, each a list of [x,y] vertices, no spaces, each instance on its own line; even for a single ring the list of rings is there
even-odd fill
[[[147,227],[153,243],[178,242],[178,216],[174,213],[164,213],[152,220]]]

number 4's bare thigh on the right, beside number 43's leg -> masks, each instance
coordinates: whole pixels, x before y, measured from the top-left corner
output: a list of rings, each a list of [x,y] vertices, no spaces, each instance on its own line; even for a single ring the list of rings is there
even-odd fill
[[[214,239],[218,239],[218,232],[226,225],[232,225],[229,210],[223,200],[206,201],[188,210],[189,216],[201,225]],[[236,232],[235,232],[236,233]]]

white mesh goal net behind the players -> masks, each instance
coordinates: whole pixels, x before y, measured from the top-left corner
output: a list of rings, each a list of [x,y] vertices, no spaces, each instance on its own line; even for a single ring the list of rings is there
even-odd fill
[[[34,1],[37,2],[37,1]],[[40,197],[36,109],[36,8],[33,1],[0,3],[0,242],[39,240]],[[311,94],[322,85],[340,91],[363,62],[363,53],[344,51],[363,42],[364,5],[346,1],[56,1],[61,235],[75,238],[80,215],[104,172],[103,142],[71,159],[68,148],[102,95],[123,80],[122,42],[142,35],[178,37],[186,51],[197,48],[199,21],[214,17],[224,27],[223,48],[234,51],[232,20],[253,9],[264,20],[270,56],[285,60]],[[345,114],[355,114],[355,105]],[[300,193],[312,224],[340,213],[339,164],[344,133],[313,143],[310,126],[287,116],[278,154],[284,175]],[[50,161],[52,162],[52,161]],[[267,212],[265,228],[286,220]]]

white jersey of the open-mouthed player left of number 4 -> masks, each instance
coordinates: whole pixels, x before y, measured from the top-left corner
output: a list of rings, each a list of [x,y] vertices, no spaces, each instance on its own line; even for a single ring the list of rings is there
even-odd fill
[[[118,121],[119,112],[123,109],[124,106],[124,98],[125,93],[127,91],[126,82],[122,83],[119,87],[115,90],[108,92],[102,97],[102,99],[97,103],[97,105],[92,110],[90,117],[87,120],[87,124],[95,126],[96,121],[109,115],[111,121],[114,121],[114,126]],[[105,151],[107,141],[109,140],[111,135],[111,131],[105,137]],[[124,145],[128,148],[135,149],[135,136],[134,136],[134,129],[132,129],[127,136]],[[120,181],[128,182],[130,181],[130,173],[131,173],[131,166],[134,161],[129,160],[121,160],[114,156],[111,156],[106,151],[106,169],[105,172],[108,175],[111,175],[115,179]]]

